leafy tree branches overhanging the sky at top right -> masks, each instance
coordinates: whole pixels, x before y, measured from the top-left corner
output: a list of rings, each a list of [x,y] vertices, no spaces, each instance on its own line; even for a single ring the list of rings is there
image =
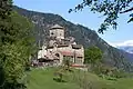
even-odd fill
[[[132,7],[133,0],[83,0],[82,3],[78,4],[74,9],[70,9],[71,11],[82,10],[84,7],[89,7],[92,12],[102,13],[105,19],[101,27],[99,28],[99,32],[103,33],[110,26],[113,29],[116,29],[117,18],[120,13],[126,13],[133,11]],[[133,13],[130,14],[130,20],[127,22],[133,21]]]

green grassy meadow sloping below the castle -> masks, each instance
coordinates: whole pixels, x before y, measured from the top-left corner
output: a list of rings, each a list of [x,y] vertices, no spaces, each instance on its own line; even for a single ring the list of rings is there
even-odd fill
[[[28,89],[133,89],[132,78],[106,80],[91,72],[74,70],[64,72],[63,82],[53,80],[55,68],[32,69]]]

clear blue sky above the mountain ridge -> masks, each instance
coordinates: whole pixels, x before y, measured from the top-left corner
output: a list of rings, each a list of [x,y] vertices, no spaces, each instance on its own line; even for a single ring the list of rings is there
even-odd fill
[[[73,23],[80,23],[92,30],[98,31],[100,23],[104,20],[102,14],[92,13],[89,8],[83,11],[69,13],[69,9],[74,8],[82,0],[13,0],[13,4],[21,8],[62,16],[65,20]],[[109,29],[104,34],[98,33],[108,43],[116,46],[133,46],[133,22],[127,23],[129,13],[121,14],[117,19],[117,29]]]

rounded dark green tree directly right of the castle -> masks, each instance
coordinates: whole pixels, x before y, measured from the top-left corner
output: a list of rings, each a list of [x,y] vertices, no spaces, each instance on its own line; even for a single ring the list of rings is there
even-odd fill
[[[85,63],[99,63],[102,60],[102,51],[98,47],[90,47],[84,52]]]

